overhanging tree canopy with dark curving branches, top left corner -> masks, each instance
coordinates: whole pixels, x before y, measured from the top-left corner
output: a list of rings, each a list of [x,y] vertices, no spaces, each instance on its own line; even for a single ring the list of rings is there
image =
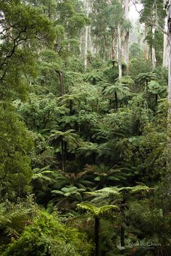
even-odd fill
[[[1,13],[5,18],[1,19],[0,79],[1,99],[5,99],[16,93],[21,96],[25,93],[28,84],[23,74],[36,73],[33,47],[38,46],[39,40],[51,44],[55,33],[53,23],[46,15],[25,2],[8,4],[1,1]]]

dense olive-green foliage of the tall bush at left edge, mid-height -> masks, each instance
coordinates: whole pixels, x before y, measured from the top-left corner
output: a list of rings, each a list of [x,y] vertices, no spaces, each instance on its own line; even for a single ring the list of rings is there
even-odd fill
[[[0,106],[1,197],[23,197],[30,190],[33,141],[9,102]]]

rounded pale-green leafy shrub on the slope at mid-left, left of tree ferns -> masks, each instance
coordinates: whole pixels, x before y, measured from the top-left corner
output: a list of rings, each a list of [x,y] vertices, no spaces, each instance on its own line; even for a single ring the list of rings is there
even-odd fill
[[[30,94],[27,102],[15,102],[17,112],[22,116],[29,129],[41,133],[57,128],[61,115],[69,112],[66,107],[59,106],[53,94],[46,96]]]

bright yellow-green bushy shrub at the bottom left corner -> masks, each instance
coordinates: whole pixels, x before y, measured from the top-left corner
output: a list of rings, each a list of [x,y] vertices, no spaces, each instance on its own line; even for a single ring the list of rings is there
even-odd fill
[[[32,225],[25,228],[20,239],[9,245],[2,254],[27,255],[90,255],[92,246],[86,236],[74,228],[67,228],[53,216],[39,212]]]

